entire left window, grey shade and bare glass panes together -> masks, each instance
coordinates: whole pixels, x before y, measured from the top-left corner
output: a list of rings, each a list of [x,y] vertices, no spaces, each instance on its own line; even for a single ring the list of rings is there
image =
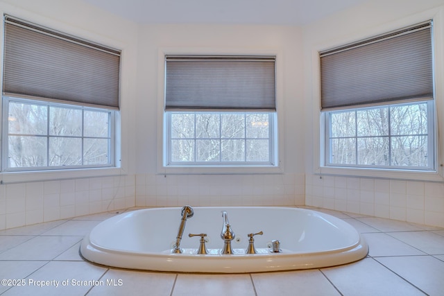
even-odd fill
[[[8,15],[4,44],[1,170],[115,166],[120,51]]]

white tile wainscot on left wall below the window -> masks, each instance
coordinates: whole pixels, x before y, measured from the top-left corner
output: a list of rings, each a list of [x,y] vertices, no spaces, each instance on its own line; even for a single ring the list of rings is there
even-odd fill
[[[134,207],[135,176],[0,185],[0,229]]]

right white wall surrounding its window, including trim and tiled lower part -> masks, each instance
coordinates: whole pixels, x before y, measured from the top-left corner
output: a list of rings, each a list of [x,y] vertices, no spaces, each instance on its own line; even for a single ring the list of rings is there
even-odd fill
[[[438,138],[443,162],[443,5],[442,0],[376,0],[345,10],[303,28],[305,77],[305,156],[307,205],[412,223],[444,227],[444,184],[441,175],[391,173],[384,179],[359,172],[323,175],[319,168],[319,71],[317,52],[434,18]],[[442,168],[440,167],[440,170]],[[337,173],[337,171],[336,171]],[[373,175],[373,177],[372,177]],[[411,180],[409,180],[411,179]],[[418,181],[420,179],[420,181]],[[435,181],[435,182],[429,182]]]

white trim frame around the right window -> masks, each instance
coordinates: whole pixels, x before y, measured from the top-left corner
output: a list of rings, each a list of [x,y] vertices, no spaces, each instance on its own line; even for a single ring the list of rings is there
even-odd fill
[[[444,9],[428,10],[413,17],[407,17],[392,24],[375,28],[375,31],[366,36],[355,35],[343,38],[341,40],[330,41],[326,44],[317,44],[311,49],[311,69],[312,69],[312,145],[313,145],[313,162],[312,173],[314,175],[332,175],[342,177],[370,177],[384,178],[393,180],[418,180],[429,182],[444,182],[444,88],[442,81],[444,79],[444,40],[442,40],[442,30],[444,28]],[[426,19],[433,19],[433,47],[434,47],[434,87],[435,87],[435,110],[434,110],[434,137],[435,137],[435,153],[436,153],[436,171],[409,171],[394,170],[382,168],[339,168],[325,166],[325,116],[321,114],[321,85],[320,77],[320,61],[319,52],[331,49],[341,44],[350,44],[357,40],[363,40],[366,37],[383,34],[388,31],[396,30],[404,26],[416,24]]]

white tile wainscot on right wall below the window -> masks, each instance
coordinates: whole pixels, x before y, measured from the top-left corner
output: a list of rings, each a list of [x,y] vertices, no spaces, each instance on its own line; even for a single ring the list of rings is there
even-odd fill
[[[307,175],[306,205],[444,227],[444,184]]]

